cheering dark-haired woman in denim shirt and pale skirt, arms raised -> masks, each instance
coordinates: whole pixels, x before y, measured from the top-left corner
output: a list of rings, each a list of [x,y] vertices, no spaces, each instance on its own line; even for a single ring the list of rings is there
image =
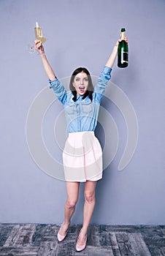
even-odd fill
[[[125,38],[128,42],[127,38]],[[63,162],[66,179],[67,199],[64,206],[64,222],[58,231],[58,241],[63,241],[69,230],[70,221],[78,200],[80,182],[85,182],[85,203],[83,209],[83,225],[77,238],[76,250],[85,249],[88,226],[95,207],[96,181],[102,178],[102,151],[99,140],[94,135],[99,105],[104,89],[110,80],[110,73],[118,53],[118,42],[112,50],[110,58],[99,75],[93,88],[91,75],[85,68],[75,69],[67,92],[56,78],[52,67],[45,56],[45,50],[39,40],[35,48],[40,53],[45,72],[50,82],[50,89],[64,105],[69,136],[66,140]]]

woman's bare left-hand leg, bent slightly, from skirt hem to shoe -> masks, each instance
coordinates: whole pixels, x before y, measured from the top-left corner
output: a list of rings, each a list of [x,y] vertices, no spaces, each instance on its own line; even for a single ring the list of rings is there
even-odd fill
[[[59,230],[61,236],[64,236],[69,228],[70,220],[74,214],[75,206],[78,200],[79,187],[79,182],[66,181],[67,199],[64,207],[64,223],[61,225]]]

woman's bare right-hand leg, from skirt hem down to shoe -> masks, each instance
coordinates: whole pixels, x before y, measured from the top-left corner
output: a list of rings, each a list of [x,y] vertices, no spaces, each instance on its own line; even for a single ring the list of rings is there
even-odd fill
[[[91,222],[91,217],[95,207],[95,189],[96,181],[86,181],[85,182],[85,203],[83,211],[83,225],[78,238],[77,244],[82,245],[85,243],[86,234],[88,231],[88,226]]]

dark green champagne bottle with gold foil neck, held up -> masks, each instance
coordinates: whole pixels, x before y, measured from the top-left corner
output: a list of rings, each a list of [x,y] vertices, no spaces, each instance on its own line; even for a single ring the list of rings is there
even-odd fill
[[[118,45],[118,67],[128,67],[128,43],[124,40],[126,29],[122,28]]]

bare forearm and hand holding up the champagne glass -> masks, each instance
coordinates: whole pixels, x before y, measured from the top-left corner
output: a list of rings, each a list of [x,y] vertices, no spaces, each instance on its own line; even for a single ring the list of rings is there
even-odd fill
[[[45,50],[44,47],[42,45],[42,42],[39,40],[35,41],[35,49],[37,50],[37,52],[40,54],[41,59],[42,59],[42,64],[44,66],[45,72],[47,74],[47,77],[53,81],[55,80],[55,73],[52,69],[52,67],[49,64],[49,61],[47,61],[47,57],[45,55]]]

